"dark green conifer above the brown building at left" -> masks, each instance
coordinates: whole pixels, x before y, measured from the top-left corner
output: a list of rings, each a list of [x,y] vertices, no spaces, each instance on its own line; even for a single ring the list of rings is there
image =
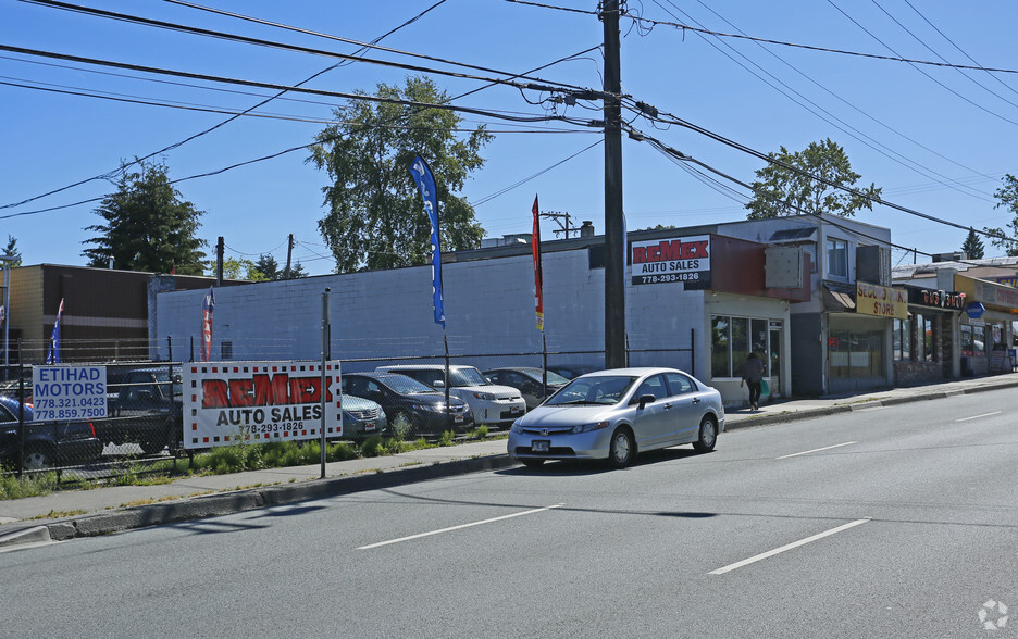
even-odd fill
[[[121,172],[116,191],[96,209],[105,223],[85,227],[99,234],[82,242],[94,245],[82,251],[89,266],[105,268],[112,258],[114,268],[201,275],[207,242],[195,234],[203,211],[181,198],[167,172],[162,162]]]

